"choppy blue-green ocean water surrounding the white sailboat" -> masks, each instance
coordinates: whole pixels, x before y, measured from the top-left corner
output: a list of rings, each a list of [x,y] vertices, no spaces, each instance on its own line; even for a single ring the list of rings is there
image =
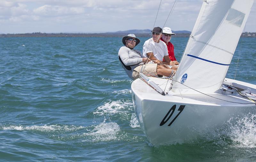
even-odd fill
[[[194,141],[152,146],[117,57],[121,40],[1,37],[0,161],[256,161],[256,112]],[[178,61],[187,41],[172,38]],[[227,77],[256,84],[255,37],[240,38]]]

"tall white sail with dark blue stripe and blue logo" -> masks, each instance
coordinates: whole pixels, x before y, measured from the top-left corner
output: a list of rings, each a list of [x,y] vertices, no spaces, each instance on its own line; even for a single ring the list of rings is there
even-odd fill
[[[204,0],[173,78],[173,92],[220,89],[252,4],[253,0]]]

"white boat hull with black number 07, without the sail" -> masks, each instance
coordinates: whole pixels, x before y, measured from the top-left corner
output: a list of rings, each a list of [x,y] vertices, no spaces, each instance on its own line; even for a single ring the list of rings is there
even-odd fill
[[[160,87],[164,89],[165,79],[150,79],[158,85],[162,84]],[[255,94],[256,86],[253,84],[226,80],[236,82],[243,88],[248,87]],[[154,145],[190,141],[209,129],[220,127],[231,118],[256,113],[256,105],[252,101],[236,94],[162,96],[141,79],[132,83],[132,99],[140,126]]]

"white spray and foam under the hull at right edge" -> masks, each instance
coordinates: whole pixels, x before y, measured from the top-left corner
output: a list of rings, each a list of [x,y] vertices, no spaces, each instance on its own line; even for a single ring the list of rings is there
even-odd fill
[[[201,134],[203,139],[212,141],[220,147],[256,148],[256,114],[230,118],[219,128]]]

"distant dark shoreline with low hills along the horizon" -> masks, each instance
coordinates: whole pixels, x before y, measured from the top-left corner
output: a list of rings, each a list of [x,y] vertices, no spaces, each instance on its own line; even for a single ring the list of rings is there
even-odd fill
[[[0,34],[0,37],[123,37],[129,33],[25,33]],[[150,37],[150,33],[134,33],[138,37]],[[189,37],[189,33],[177,33],[174,37]],[[256,37],[256,32],[244,32],[241,37]]]

